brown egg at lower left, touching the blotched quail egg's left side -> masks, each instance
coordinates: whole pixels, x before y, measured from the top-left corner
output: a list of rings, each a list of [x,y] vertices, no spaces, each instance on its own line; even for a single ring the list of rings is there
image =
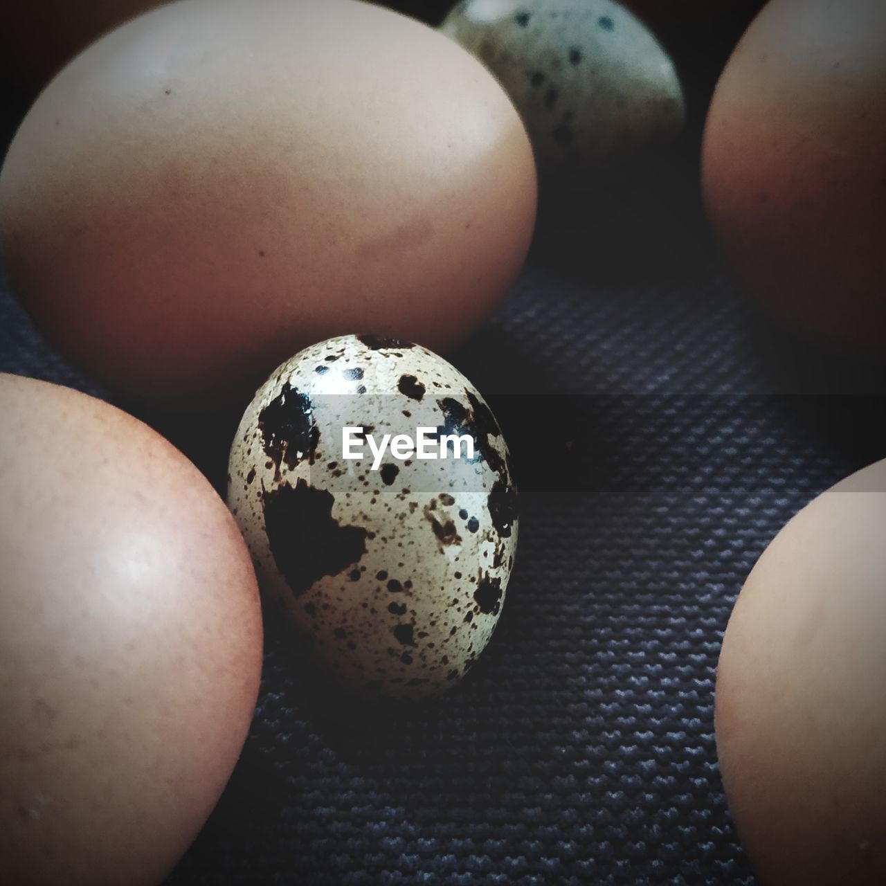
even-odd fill
[[[146,425],[6,375],[0,414],[0,880],[148,886],[253,716],[253,566],[213,488]]]

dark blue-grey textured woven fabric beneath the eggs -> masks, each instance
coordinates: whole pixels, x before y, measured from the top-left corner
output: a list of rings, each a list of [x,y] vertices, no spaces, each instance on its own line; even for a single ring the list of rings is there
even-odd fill
[[[717,767],[722,631],[781,525],[886,455],[886,388],[749,307],[695,182],[671,159],[546,213],[508,302],[453,357],[523,496],[470,678],[398,716],[336,711],[268,624],[243,757],[170,884],[754,882]],[[101,393],[5,283],[0,369]]]

